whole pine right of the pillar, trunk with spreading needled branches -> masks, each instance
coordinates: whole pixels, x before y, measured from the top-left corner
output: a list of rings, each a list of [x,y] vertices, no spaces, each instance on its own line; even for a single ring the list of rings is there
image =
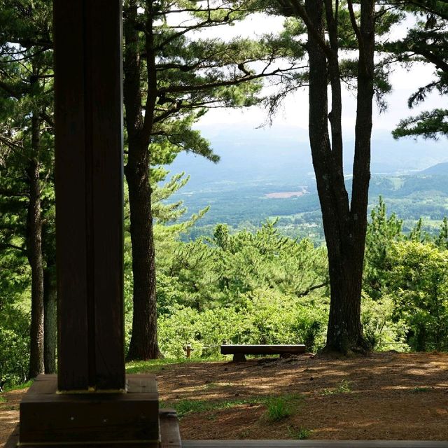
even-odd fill
[[[200,38],[200,30],[228,26],[250,3],[223,1],[204,8],[188,1],[127,0],[124,8],[125,176],[130,195],[134,320],[128,359],[160,355],[157,342],[155,248],[150,166],[160,148],[190,151],[217,162],[209,143],[192,129],[210,107],[249,106],[260,78],[281,75],[286,54],[275,39],[253,42]],[[242,12],[244,11],[244,12]],[[179,20],[180,14],[188,20]],[[261,61],[263,69],[250,65]]]

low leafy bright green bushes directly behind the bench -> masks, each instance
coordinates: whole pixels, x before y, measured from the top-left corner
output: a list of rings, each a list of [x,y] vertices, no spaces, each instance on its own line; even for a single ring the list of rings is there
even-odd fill
[[[193,356],[216,356],[221,344],[301,344],[323,346],[326,311],[272,290],[241,295],[239,304],[197,311],[179,307],[158,321],[165,356],[179,358],[191,344]]]

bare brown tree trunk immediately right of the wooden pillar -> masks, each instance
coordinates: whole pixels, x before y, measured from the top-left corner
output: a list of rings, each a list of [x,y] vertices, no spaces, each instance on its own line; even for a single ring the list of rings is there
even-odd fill
[[[146,10],[146,71],[148,94],[145,113],[141,95],[141,53],[137,31],[137,1],[125,6],[125,73],[124,101],[128,136],[125,176],[130,197],[130,232],[132,242],[133,304],[132,336],[127,359],[153,359],[160,356],[157,338],[155,288],[155,248],[149,144],[153,126],[157,86],[153,51],[151,2]]]

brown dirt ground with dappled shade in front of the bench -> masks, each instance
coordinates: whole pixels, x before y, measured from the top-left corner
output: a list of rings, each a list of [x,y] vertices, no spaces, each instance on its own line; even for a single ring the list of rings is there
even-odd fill
[[[184,363],[161,367],[157,379],[163,405],[183,409],[186,440],[448,440],[447,353]],[[0,443],[24,392],[3,393]],[[284,398],[290,416],[269,419],[272,396]]]

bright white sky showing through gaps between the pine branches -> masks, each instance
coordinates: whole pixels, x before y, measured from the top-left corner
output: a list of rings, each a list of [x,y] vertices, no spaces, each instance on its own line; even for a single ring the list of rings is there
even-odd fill
[[[237,36],[255,37],[258,34],[267,32],[275,32],[281,30],[283,18],[267,17],[266,15],[254,15],[248,20],[241,22],[232,27],[220,27],[219,36],[225,40]],[[397,38],[400,34],[405,34],[410,22],[403,23],[399,28],[393,30],[393,38]],[[211,34],[213,33],[213,34]],[[201,33],[201,36],[216,36],[216,30]],[[418,108],[407,109],[407,99],[410,94],[415,92],[418,87],[430,82],[433,78],[434,67],[430,64],[415,64],[409,71],[400,66],[396,66],[391,73],[391,84],[393,90],[391,94],[386,96],[388,109],[386,112],[379,114],[378,109],[374,110],[374,130],[373,138],[380,135],[390,135],[391,130],[398,125],[401,118],[416,115],[419,111],[430,110],[435,107],[446,106],[446,101],[437,94],[432,94]],[[354,123],[356,116],[356,98],[352,92],[344,90],[343,92],[343,131],[345,139],[353,139]],[[207,112],[197,127],[208,131],[228,128],[231,125],[245,125],[255,128],[265,122],[267,113],[261,107],[252,107],[250,109],[228,110],[228,109],[212,109]],[[283,111],[279,111],[272,123],[272,130],[278,129],[279,132],[288,132],[295,130],[295,134],[300,135],[301,141],[307,140],[308,127],[308,92],[303,89],[296,92],[286,99],[283,104]]]

